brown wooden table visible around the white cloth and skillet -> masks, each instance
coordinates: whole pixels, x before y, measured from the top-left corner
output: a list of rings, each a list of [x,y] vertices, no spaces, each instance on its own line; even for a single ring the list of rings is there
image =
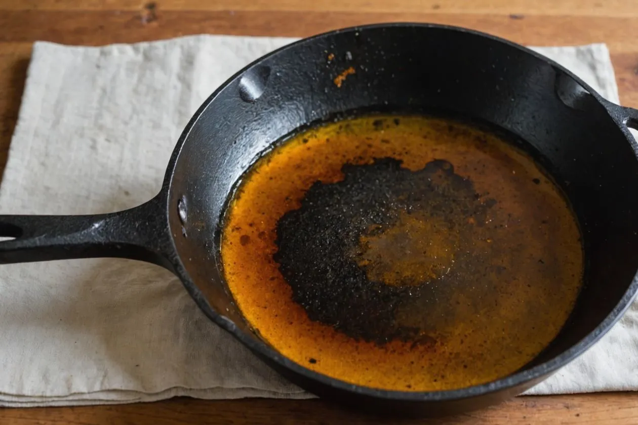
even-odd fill
[[[103,45],[186,34],[309,36],[373,22],[461,25],[526,45],[604,41],[621,103],[638,108],[635,0],[0,0],[0,171],[36,40]],[[378,423],[319,400],[199,401],[0,409],[0,424]],[[638,394],[519,397],[428,424],[637,424]]]

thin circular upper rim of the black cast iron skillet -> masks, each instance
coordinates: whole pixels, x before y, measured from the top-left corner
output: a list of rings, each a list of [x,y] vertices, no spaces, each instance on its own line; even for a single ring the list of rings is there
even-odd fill
[[[165,187],[168,194],[168,196],[166,197],[167,214],[168,214],[168,211],[170,211],[170,209],[168,208],[168,202],[170,202],[169,199],[170,199],[170,192],[172,189],[172,178],[174,175],[175,166],[179,159],[179,155],[181,153],[182,147],[184,147],[184,144],[189,139],[191,130],[193,129],[195,124],[198,122],[198,120],[202,117],[204,111],[214,101],[214,99],[216,99],[216,97],[218,97],[218,95],[223,90],[225,90],[226,87],[228,87],[233,82],[235,82],[235,80],[238,80],[248,69],[253,68],[253,66],[260,64],[267,59],[270,59],[271,57],[277,55],[279,52],[283,50],[288,50],[293,47],[299,47],[300,45],[311,43],[312,41],[316,39],[326,38],[334,34],[340,34],[340,33],[363,32],[363,31],[380,30],[380,29],[382,30],[382,29],[397,28],[397,27],[406,28],[406,29],[407,28],[443,29],[447,31],[464,32],[474,36],[487,38],[492,41],[497,41],[499,43],[508,45],[509,47],[521,50],[527,54],[532,55],[536,59],[540,61],[544,61],[545,63],[553,66],[553,68],[560,70],[561,72],[570,76],[570,78],[573,78],[575,82],[579,83],[580,85],[582,85],[582,87],[584,87],[584,89],[588,90],[588,92],[590,92],[590,94],[593,97],[595,97],[598,103],[604,106],[605,109],[609,112],[609,109],[606,107],[606,105],[609,104],[610,102],[604,99],[602,96],[600,96],[600,94],[598,94],[596,90],[592,89],[590,85],[582,81],[581,78],[574,75],[574,73],[572,73],[568,69],[564,68],[563,66],[553,61],[552,59],[549,59],[542,54],[538,54],[537,52],[535,52],[534,50],[531,50],[530,48],[524,47],[522,45],[519,45],[509,40],[505,40],[498,36],[488,34],[486,32],[476,31],[473,29],[467,29],[464,27],[458,27],[454,25],[441,25],[441,24],[429,24],[429,23],[418,23],[418,22],[378,23],[378,24],[346,27],[342,29],[322,32],[320,34],[316,34],[315,36],[302,38],[300,40],[294,41],[293,43],[289,43],[288,45],[285,45],[276,50],[273,50],[269,54],[263,55],[262,57],[256,59],[255,61],[251,62],[250,64],[242,68],[240,71],[235,73],[235,75],[228,78],[226,82],[221,84],[218,87],[218,89],[214,90],[211,96],[209,96],[204,101],[204,103],[202,103],[200,108],[198,108],[197,112],[195,112],[193,114],[193,117],[189,120],[188,124],[184,128],[184,131],[182,131],[182,134],[179,137],[179,140],[177,141],[177,144],[175,145],[175,148],[168,162],[167,172],[166,172],[164,184],[163,184],[163,187]],[[618,124],[618,121],[616,121],[616,123]],[[628,131],[627,127],[625,126],[619,126],[619,127],[621,127],[621,131],[623,131],[623,134],[625,135],[627,142],[630,143],[630,145],[632,146],[632,150],[634,150],[635,152],[635,143],[632,143],[631,141],[631,139],[633,139],[632,134]],[[175,252],[175,256],[174,256],[175,273],[182,280],[182,283],[186,287],[186,290],[189,292],[191,297],[195,299],[199,308],[201,308],[204,311],[204,313],[209,317],[209,319],[211,319],[212,322],[214,322],[214,324],[216,324],[217,326],[231,333],[234,336],[234,338],[236,338],[237,340],[239,340],[239,342],[241,342],[243,345],[248,347],[248,349],[250,349],[256,354],[259,354],[260,356],[263,356],[269,359],[270,361],[273,361],[274,363],[278,364],[278,366],[282,368],[290,370],[293,373],[296,373],[298,375],[302,375],[304,378],[315,380],[316,382],[319,382],[320,384],[328,385],[335,389],[348,391],[350,393],[355,393],[360,396],[369,396],[371,398],[378,398],[378,399],[383,399],[388,401],[391,401],[391,400],[408,401],[408,402],[410,401],[413,401],[413,402],[454,401],[454,400],[461,400],[468,397],[482,396],[489,393],[494,393],[496,391],[514,389],[515,387],[521,387],[526,384],[529,384],[527,385],[527,388],[530,388],[533,385],[540,382],[541,380],[544,380],[544,378],[551,375],[551,373],[554,373],[556,370],[560,369],[561,367],[573,361],[576,357],[581,356],[581,354],[583,354],[586,350],[590,349],[592,345],[598,342],[598,340],[600,340],[600,338],[602,338],[602,336],[604,336],[612,328],[612,326],[614,326],[614,324],[616,324],[616,322],[618,322],[619,319],[621,319],[623,314],[627,311],[629,306],[632,304],[632,301],[634,300],[638,292],[638,271],[637,271],[637,273],[634,275],[634,278],[632,279],[632,282],[628,286],[627,291],[625,291],[625,293],[623,294],[622,298],[619,299],[618,303],[616,304],[616,306],[614,306],[612,311],[605,317],[605,319],[602,322],[598,324],[598,326],[595,329],[593,329],[593,331],[591,331],[588,335],[582,338],[582,340],[577,342],[575,345],[573,345],[569,349],[561,352],[561,354],[559,354],[558,356],[555,356],[552,359],[549,359],[548,361],[545,361],[544,363],[540,363],[537,366],[534,366],[533,368],[530,368],[528,370],[519,371],[519,372],[513,373],[512,375],[508,375],[506,377],[493,380],[485,384],[472,385],[470,387],[463,387],[460,389],[451,389],[451,390],[443,390],[443,391],[420,391],[420,392],[385,390],[385,389],[378,389],[375,387],[366,387],[363,385],[350,384],[346,381],[340,380],[339,378],[332,378],[332,377],[329,377],[328,375],[315,372],[313,370],[305,368],[304,366],[298,363],[291,361],[287,357],[284,357],[278,351],[269,347],[269,345],[267,345],[265,342],[255,340],[255,338],[251,338],[250,336],[248,336],[247,333],[244,333],[244,331],[241,331],[241,329],[237,328],[234,322],[230,321],[230,319],[227,319],[221,313],[215,312],[211,308],[211,306],[205,300],[200,290],[197,288],[197,285],[195,285],[193,280],[189,277],[186,269],[184,268],[181,262],[181,259],[179,257],[179,252],[177,250],[177,247],[175,247],[175,241],[173,238],[171,238],[171,242],[173,243],[173,249]]]

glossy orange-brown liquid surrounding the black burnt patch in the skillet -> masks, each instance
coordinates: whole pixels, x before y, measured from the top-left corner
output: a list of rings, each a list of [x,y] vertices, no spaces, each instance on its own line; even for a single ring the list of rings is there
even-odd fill
[[[278,220],[302,206],[313,183],[340,182],[344,164],[384,157],[411,171],[445,159],[477,194],[496,201],[484,222],[463,218],[464,234],[418,213],[400,215],[393,227],[361,236],[348,254],[369,280],[428,285],[423,304],[396,311],[397,321],[427,334],[420,343],[366,342],[311,321],[273,259]],[[465,253],[478,260],[460,261]],[[274,349],[330,377],[399,391],[457,389],[521,368],[567,320],[583,270],[577,222],[528,155],[482,129],[417,116],[327,124],[269,152],[230,203],[221,256],[237,305]]]

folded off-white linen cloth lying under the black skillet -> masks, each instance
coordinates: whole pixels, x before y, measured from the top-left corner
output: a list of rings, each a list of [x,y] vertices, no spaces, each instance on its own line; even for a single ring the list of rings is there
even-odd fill
[[[78,214],[159,191],[175,141],[212,90],[292,39],[191,36],[36,43],[1,213]],[[605,45],[539,48],[618,101]],[[638,388],[638,307],[533,393]],[[0,405],[310,397],[209,322],[180,282],[119,259],[0,266]]]

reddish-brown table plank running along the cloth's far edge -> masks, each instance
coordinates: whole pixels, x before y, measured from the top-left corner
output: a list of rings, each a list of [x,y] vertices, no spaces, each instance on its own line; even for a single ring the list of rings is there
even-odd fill
[[[0,15],[0,41],[48,40],[64,44],[134,43],[189,34],[303,37],[378,22],[431,22],[459,25],[517,43],[570,45],[604,41],[616,52],[635,49],[635,18],[524,16],[375,11],[31,11]],[[25,22],[28,25],[25,25]]]

